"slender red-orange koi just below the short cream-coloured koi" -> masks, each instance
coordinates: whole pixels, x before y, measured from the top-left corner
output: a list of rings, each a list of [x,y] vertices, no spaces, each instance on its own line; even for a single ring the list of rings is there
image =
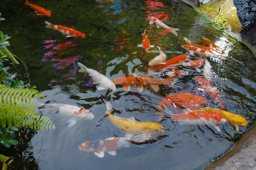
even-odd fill
[[[164,69],[164,68],[171,68],[171,67],[174,67],[174,66],[178,66],[178,65],[182,64],[182,62],[189,60],[189,57],[190,57],[189,55],[182,54],[182,55],[173,57],[171,60],[168,60],[166,62],[166,64],[162,64],[162,65],[153,67],[152,69],[161,70],[161,69]]]

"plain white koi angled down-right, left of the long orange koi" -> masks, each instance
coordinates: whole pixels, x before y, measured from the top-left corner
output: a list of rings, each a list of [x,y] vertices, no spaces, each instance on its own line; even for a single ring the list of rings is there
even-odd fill
[[[92,79],[94,80],[94,84],[99,84],[96,88],[97,90],[104,90],[104,89],[111,89],[112,91],[117,90],[116,85],[105,75],[99,73],[98,71],[91,69],[91,68],[87,68],[86,66],[84,66],[83,64],[77,62],[77,65],[79,67],[81,67],[79,69],[79,72],[81,73],[89,73],[89,75],[92,77]]]

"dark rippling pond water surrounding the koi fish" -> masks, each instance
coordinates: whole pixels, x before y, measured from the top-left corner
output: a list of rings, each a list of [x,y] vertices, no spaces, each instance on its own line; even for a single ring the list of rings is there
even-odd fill
[[[92,120],[78,119],[74,126],[68,127],[67,119],[61,121],[63,116],[60,113],[38,109],[54,121],[56,129],[25,135],[24,141],[8,153],[14,158],[13,166],[18,169],[202,169],[229,150],[256,121],[255,56],[181,0],[31,1],[52,11],[50,18],[36,15],[24,1],[2,0],[1,3],[2,17],[6,18],[0,24],[1,30],[11,36],[10,51],[26,62],[31,84],[45,95],[46,100],[40,99],[39,102],[83,106],[94,115]],[[150,25],[148,15],[180,29],[178,36],[166,33],[155,24]],[[66,38],[58,31],[45,28],[45,21],[71,26],[86,37]],[[155,45],[148,52],[137,47],[145,29],[150,43]],[[203,77],[202,72],[187,66],[180,65],[175,69],[188,71],[188,75],[177,80],[173,87],[160,85],[159,92],[148,89],[140,92],[136,87],[125,91],[119,85],[117,91],[99,91],[88,74],[78,72],[77,62],[81,62],[111,80],[126,76],[129,70],[146,75],[148,62],[159,55],[156,46],[161,47],[167,60],[181,54],[190,55],[189,61],[198,59],[198,55],[191,55],[181,47],[186,44],[183,37],[192,44],[202,44],[200,38],[208,38],[229,53],[229,57],[222,61],[207,58],[212,67],[211,85],[218,89],[226,110],[245,117],[248,126],[237,131],[225,123],[218,125],[221,130],[218,132],[211,125],[173,123],[173,113],[184,113],[184,110],[174,107],[164,110],[164,116],[159,120],[156,104],[175,93],[202,96],[207,103],[201,108],[218,108],[216,101],[198,88],[194,77]],[[11,71],[18,79],[27,81],[22,66],[11,68]],[[116,156],[105,153],[99,158],[92,152],[83,152],[78,146],[85,141],[126,136],[106,115],[105,100],[112,103],[114,115],[158,122],[166,130],[143,144],[131,143],[129,148],[117,150]],[[27,134],[27,130],[20,132],[23,133]],[[16,150],[22,153],[18,152],[17,156]]]

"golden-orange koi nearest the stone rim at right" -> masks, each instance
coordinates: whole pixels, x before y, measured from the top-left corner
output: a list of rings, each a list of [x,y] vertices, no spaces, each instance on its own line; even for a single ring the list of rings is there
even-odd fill
[[[236,127],[236,130],[239,130],[239,126],[247,126],[248,125],[248,121],[237,114],[225,111],[225,110],[220,110],[220,109],[216,109],[216,108],[202,108],[199,109],[200,111],[209,111],[212,113],[216,113],[220,116],[222,116],[223,118],[227,119],[227,121],[229,122],[229,124],[234,125]]]

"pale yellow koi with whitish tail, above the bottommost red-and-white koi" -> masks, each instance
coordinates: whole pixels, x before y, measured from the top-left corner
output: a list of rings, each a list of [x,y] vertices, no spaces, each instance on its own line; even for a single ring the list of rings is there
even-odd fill
[[[123,118],[113,116],[108,113],[108,117],[112,123],[118,128],[130,133],[159,133],[164,132],[165,128],[159,123],[136,121],[134,117]]]

